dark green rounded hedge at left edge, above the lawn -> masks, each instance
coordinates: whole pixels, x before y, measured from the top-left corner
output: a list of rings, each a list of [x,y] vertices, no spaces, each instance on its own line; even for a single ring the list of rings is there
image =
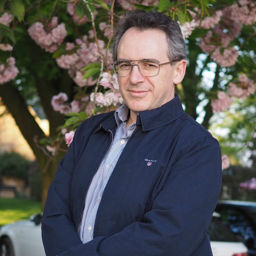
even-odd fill
[[[0,155],[0,175],[27,180],[30,162],[15,152]]]

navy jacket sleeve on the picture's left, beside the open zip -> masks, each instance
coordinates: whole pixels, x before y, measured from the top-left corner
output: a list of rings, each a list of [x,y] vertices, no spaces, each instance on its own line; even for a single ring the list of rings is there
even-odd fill
[[[65,157],[60,161],[48,190],[42,219],[42,240],[47,256],[56,256],[82,244],[72,222],[70,210],[70,188],[75,158],[79,152],[80,127],[75,132]]]

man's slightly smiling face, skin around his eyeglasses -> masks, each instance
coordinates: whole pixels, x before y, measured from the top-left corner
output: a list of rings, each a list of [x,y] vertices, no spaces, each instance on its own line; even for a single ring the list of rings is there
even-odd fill
[[[170,61],[167,52],[168,43],[163,31],[158,29],[139,31],[130,28],[119,42],[117,60],[147,59],[157,60],[161,64]],[[133,63],[137,64],[138,61]],[[174,83],[177,83],[176,66],[171,64],[160,66],[159,74],[153,77],[141,75],[138,66],[133,66],[129,76],[118,77],[120,93],[129,109],[133,112],[151,110],[173,99]]]

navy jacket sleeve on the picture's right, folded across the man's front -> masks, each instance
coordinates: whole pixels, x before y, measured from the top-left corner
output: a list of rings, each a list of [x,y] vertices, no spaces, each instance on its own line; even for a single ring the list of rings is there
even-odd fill
[[[191,255],[205,238],[219,197],[219,144],[209,136],[197,139],[168,168],[164,186],[143,222],[110,237],[95,237],[59,256]]]

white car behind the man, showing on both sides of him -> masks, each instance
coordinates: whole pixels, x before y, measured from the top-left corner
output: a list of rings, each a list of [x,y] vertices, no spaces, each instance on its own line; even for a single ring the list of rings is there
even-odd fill
[[[0,256],[45,256],[41,238],[41,214],[7,224],[0,229]],[[213,256],[248,256],[245,245],[213,214],[208,230]]]

